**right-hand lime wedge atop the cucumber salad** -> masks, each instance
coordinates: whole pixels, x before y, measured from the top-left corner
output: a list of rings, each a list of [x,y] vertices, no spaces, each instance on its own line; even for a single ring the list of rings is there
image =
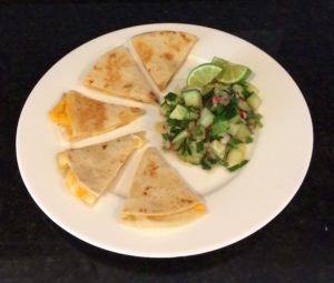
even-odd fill
[[[250,73],[250,69],[246,65],[226,63],[224,71],[216,78],[216,80],[226,84],[236,83],[245,81]]]

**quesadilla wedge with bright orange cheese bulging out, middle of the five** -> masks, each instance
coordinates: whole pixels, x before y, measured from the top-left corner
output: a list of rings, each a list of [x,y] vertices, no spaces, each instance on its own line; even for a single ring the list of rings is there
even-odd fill
[[[104,103],[76,91],[65,93],[49,113],[51,121],[65,129],[70,141],[111,131],[141,114],[140,108]]]

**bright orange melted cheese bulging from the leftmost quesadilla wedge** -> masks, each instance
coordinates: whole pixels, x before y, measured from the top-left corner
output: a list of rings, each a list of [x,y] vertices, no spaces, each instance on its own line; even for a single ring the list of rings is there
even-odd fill
[[[49,112],[51,121],[62,125],[69,134],[72,134],[72,127],[69,117],[69,99],[65,95],[58,104]]]

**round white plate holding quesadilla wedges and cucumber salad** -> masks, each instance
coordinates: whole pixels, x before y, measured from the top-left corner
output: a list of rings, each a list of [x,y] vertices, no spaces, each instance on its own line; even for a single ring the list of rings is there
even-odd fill
[[[184,164],[165,154],[185,181],[199,193],[208,214],[177,229],[135,230],[119,223],[119,214],[141,151],[122,170],[94,209],[86,208],[65,188],[57,169],[56,153],[69,146],[61,143],[48,111],[62,92],[75,89],[104,101],[140,105],[146,115],[128,127],[75,144],[85,145],[117,135],[147,130],[149,144],[160,146],[154,130],[157,108],[108,98],[81,87],[85,73],[105,52],[129,44],[138,33],[154,30],[181,30],[198,37],[187,62],[177,72],[169,90],[185,82],[188,71],[218,55],[250,67],[252,82],[259,89],[259,112],[264,128],[254,144],[250,162],[230,178],[223,168],[212,172]],[[288,73],[253,44],[223,31],[189,24],[161,23],[128,28],[99,37],[58,61],[31,91],[22,110],[17,132],[17,156],[27,189],[41,210],[59,226],[92,245],[117,253],[173,257],[199,254],[235,243],[274,219],[292,200],[306,174],[313,146],[312,121],[307,105]]]

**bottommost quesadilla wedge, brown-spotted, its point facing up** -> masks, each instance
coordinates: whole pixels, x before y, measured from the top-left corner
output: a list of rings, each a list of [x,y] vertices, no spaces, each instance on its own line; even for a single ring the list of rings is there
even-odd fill
[[[199,196],[188,189],[156,149],[148,148],[124,204],[122,222],[140,228],[175,226],[205,213]]]

